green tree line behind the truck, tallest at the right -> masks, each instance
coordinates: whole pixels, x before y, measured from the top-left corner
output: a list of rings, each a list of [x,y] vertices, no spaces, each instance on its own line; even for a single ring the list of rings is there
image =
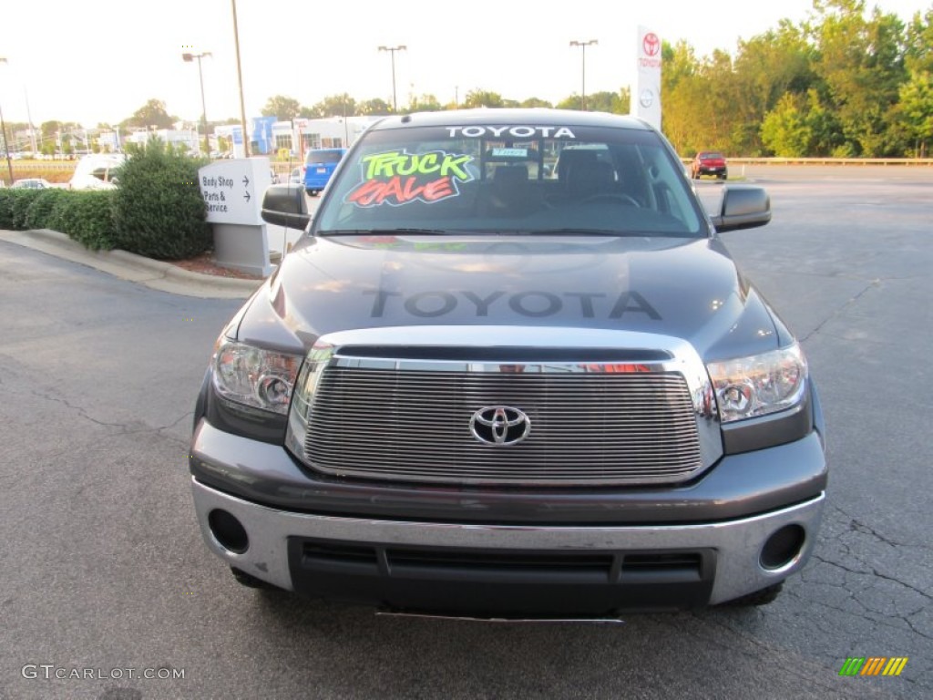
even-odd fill
[[[734,54],[698,57],[686,41],[662,45],[662,130],[682,155],[920,157],[933,141],[933,7],[911,21],[864,0],[814,0],[810,17],[741,41]],[[586,108],[628,114],[630,92],[596,92]],[[461,107],[581,108],[574,94],[552,105],[484,90],[459,105],[412,97],[406,111]],[[381,99],[331,95],[312,106],[276,95],[280,119],[389,114]]]

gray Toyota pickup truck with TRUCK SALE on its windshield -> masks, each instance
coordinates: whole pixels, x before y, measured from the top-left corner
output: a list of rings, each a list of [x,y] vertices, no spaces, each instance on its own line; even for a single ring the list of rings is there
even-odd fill
[[[800,345],[663,136],[606,114],[388,117],[217,339],[189,466],[248,586],[398,612],[769,602],[827,485]]]

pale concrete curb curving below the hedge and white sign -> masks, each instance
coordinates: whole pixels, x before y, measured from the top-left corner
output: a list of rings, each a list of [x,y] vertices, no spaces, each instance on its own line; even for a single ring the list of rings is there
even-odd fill
[[[93,251],[50,229],[0,230],[0,240],[71,260],[129,282],[202,299],[246,299],[263,280],[245,280],[194,273],[171,262],[145,258],[125,250]]]

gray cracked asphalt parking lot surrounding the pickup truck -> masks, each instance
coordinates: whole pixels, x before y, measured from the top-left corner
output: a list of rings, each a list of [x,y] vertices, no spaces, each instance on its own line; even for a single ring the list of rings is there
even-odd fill
[[[820,386],[823,529],[771,606],[616,625],[383,617],[240,587],[202,544],[186,455],[241,301],[0,242],[0,698],[933,696],[933,168],[745,177],[773,222],[723,239]],[[909,661],[840,677],[850,656]]]

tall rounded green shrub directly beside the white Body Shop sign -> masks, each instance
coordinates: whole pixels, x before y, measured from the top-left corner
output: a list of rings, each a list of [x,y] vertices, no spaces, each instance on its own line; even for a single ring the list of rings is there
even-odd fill
[[[198,168],[205,162],[159,140],[132,148],[115,174],[115,245],[155,259],[189,258],[209,250],[213,238],[198,187]]]

